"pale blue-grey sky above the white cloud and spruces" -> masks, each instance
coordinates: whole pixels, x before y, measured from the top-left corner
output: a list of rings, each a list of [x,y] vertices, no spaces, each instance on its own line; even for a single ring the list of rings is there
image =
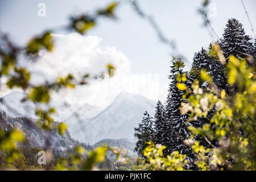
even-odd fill
[[[38,16],[38,3],[46,4],[46,17]],[[61,27],[68,24],[69,15],[93,12],[105,7],[110,0],[9,0],[0,1],[0,30],[8,32],[19,45],[25,45],[27,40],[44,30]],[[171,61],[169,48],[159,42],[154,30],[147,20],[134,13],[131,6],[121,1],[116,15],[117,20],[106,18],[97,22],[97,26],[86,35],[101,38],[102,47],[115,47],[131,61],[131,73],[156,73],[159,75],[159,88],[166,89]],[[197,13],[202,0],[139,1],[145,13],[154,16],[167,38],[175,40],[177,49],[187,58],[186,69],[191,67],[192,57],[201,47],[208,47],[215,40],[207,28],[201,26],[203,19]],[[251,33],[250,24],[246,18],[240,0],[212,1],[216,14],[210,19],[218,36],[223,33],[225,23],[229,18],[237,18],[245,27],[246,33]],[[256,1],[244,0],[254,29],[256,28]],[[55,34],[69,34],[72,31],[55,31]],[[164,95],[159,96],[161,100]]]

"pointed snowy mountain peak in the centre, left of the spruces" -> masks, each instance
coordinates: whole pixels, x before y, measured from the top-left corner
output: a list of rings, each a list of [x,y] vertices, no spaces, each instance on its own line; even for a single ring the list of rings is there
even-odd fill
[[[73,138],[90,144],[105,138],[134,139],[134,127],[138,127],[146,110],[152,115],[155,101],[122,92],[95,117],[81,118],[76,125],[71,125],[71,121],[67,122],[68,130]]]

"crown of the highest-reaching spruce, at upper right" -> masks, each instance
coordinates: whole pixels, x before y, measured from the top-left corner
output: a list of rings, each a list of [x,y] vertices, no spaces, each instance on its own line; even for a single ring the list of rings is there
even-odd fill
[[[227,61],[230,55],[245,58],[246,55],[250,55],[253,46],[250,37],[245,35],[242,24],[234,18],[228,20],[219,44]]]

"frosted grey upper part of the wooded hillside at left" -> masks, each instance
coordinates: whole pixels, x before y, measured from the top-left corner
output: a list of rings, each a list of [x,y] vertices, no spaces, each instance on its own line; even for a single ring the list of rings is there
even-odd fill
[[[58,123],[54,123],[57,125]],[[53,150],[54,154],[67,155],[67,150],[72,150],[79,142],[71,138],[68,130],[64,135],[60,135],[56,129],[51,131],[42,130],[36,125],[35,119],[26,117],[10,117],[6,115],[5,111],[0,110],[0,129],[11,130],[13,127],[22,131],[26,137],[26,142],[19,143],[19,147],[31,149],[31,148],[43,148],[46,147],[46,141]]]

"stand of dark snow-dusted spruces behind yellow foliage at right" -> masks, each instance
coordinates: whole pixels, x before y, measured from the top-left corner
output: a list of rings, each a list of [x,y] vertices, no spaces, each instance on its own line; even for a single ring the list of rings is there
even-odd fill
[[[221,39],[218,44],[222,51],[224,51],[224,56],[227,61],[230,55],[234,55],[238,58],[245,58],[248,55],[252,55],[254,59],[256,58],[256,43],[254,46],[250,43],[249,36],[245,35],[242,24],[239,23],[238,20],[229,19],[223,36],[224,38]],[[196,121],[187,122],[189,113],[182,115],[180,113],[180,106],[181,102],[187,102],[186,98],[188,96],[183,97],[186,90],[178,89],[177,83],[183,83],[189,90],[192,90],[191,85],[193,84],[193,81],[199,80],[200,88],[202,88],[204,92],[208,92],[205,90],[207,87],[210,89],[214,88],[215,90],[217,86],[216,90],[225,89],[226,93],[229,94],[229,90],[231,89],[227,82],[228,77],[226,75],[226,67],[223,62],[220,62],[218,55],[214,51],[215,49],[213,49],[212,44],[210,44],[208,50],[202,48],[201,51],[196,52],[193,57],[190,72],[183,71],[184,63],[181,60],[172,61],[170,76],[168,76],[170,85],[166,106],[164,108],[162,103],[158,101],[154,119],[154,137],[145,137],[145,140],[151,139],[154,143],[160,143],[166,146],[166,150],[163,151],[165,156],[172,151],[179,151],[180,154],[186,154],[189,164],[188,169],[195,169],[194,162],[196,160],[196,155],[192,152],[191,148],[184,143],[184,140],[189,139],[191,135],[188,131],[188,126],[203,127],[205,123],[209,123],[213,114],[216,113],[216,107],[213,106],[206,118],[199,117]],[[213,82],[208,84],[207,81],[201,80],[200,71],[202,71],[202,69],[209,74]],[[230,93],[231,92],[232,90]],[[193,93],[191,92],[189,94]],[[142,126],[143,125],[141,124],[139,127],[143,129]],[[143,133],[142,129],[137,129],[137,131]],[[139,135],[137,134],[137,136]],[[195,135],[194,139],[200,141],[200,144],[203,144],[205,147],[212,147],[212,144],[214,146],[218,145],[217,140],[211,141],[212,143],[210,144],[208,143],[209,141],[207,138],[201,137],[201,135]],[[143,143],[138,144],[142,146]]]

